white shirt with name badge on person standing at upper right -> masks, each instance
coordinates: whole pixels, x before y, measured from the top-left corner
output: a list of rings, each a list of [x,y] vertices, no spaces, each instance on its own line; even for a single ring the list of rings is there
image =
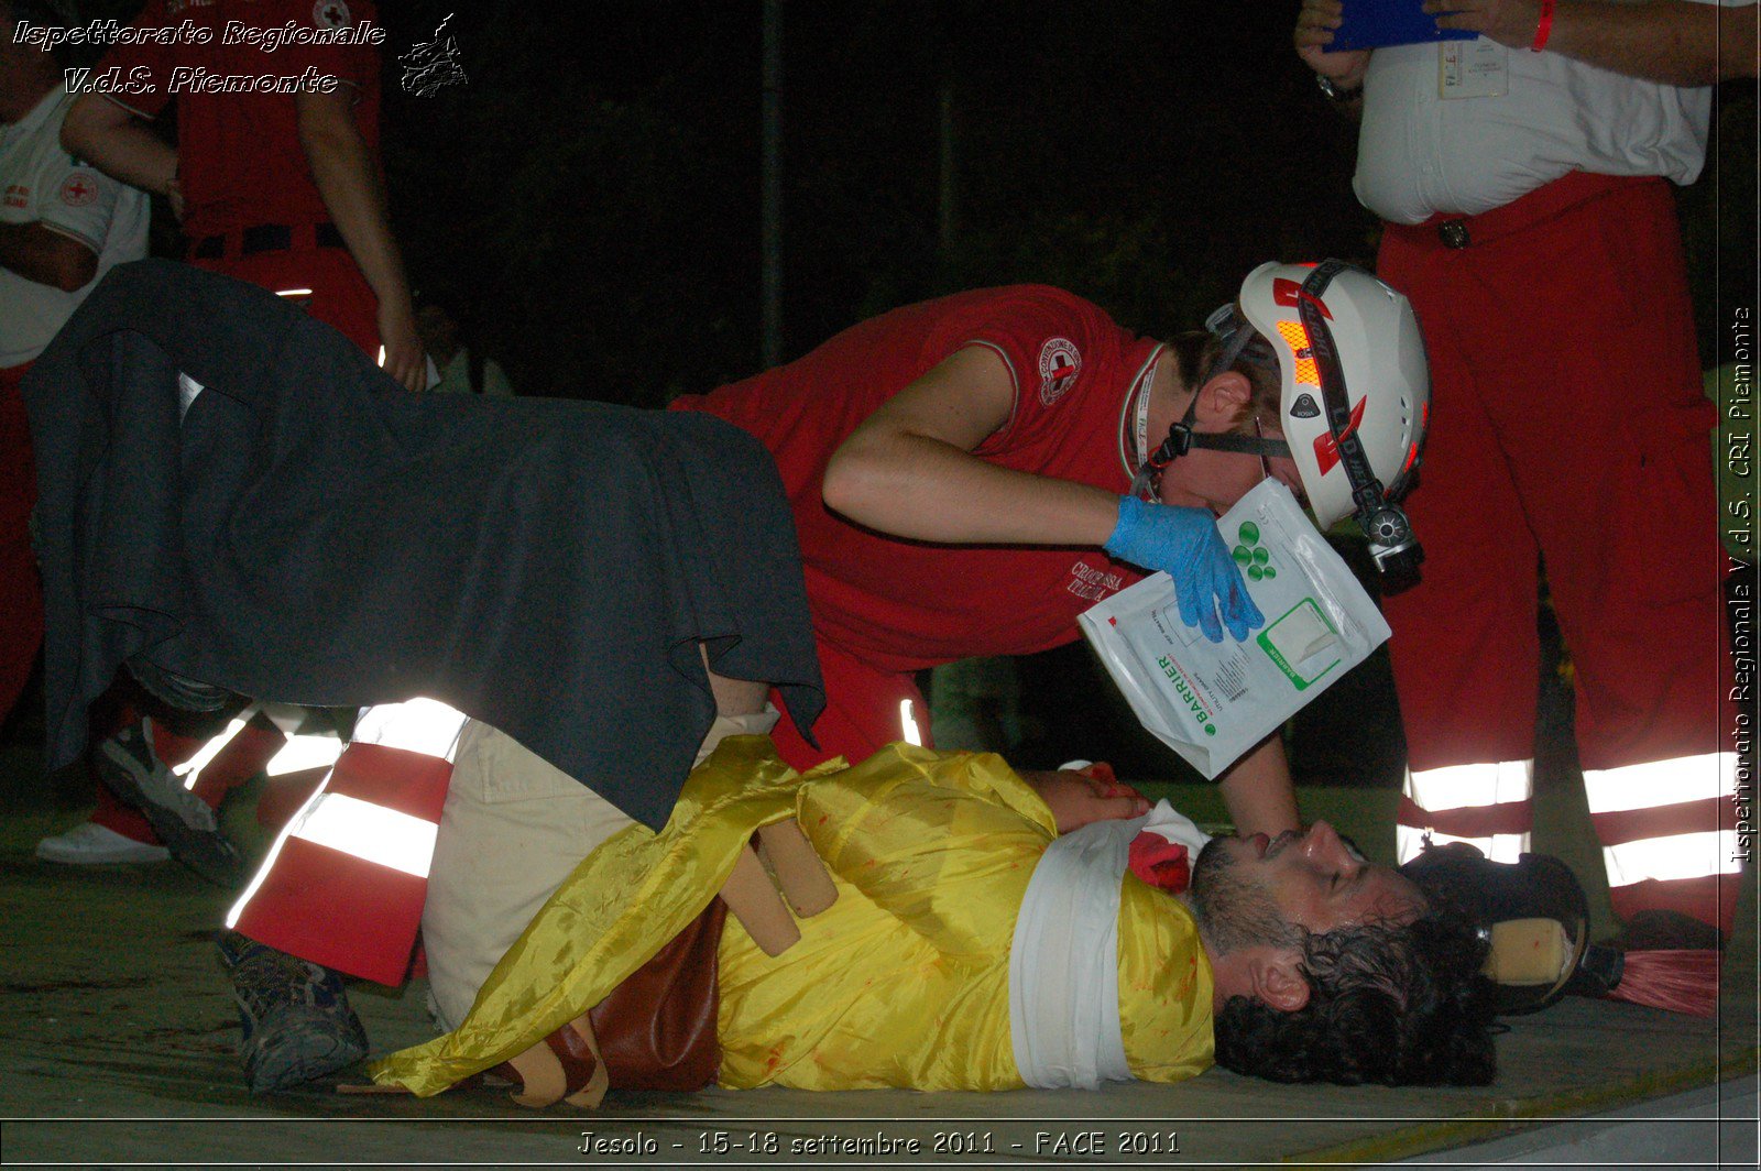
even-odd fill
[[[1444,97],[1440,58],[1463,44],[1404,44],[1370,56],[1352,187],[1384,220],[1479,215],[1571,171],[1676,183],[1699,174],[1710,86],[1641,81],[1481,39],[1493,62],[1502,56],[1507,92]]]

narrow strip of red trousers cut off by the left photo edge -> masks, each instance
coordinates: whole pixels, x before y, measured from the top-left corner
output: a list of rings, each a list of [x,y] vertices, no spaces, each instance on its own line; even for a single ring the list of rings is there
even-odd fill
[[[30,509],[37,504],[37,465],[19,384],[30,363],[0,368],[0,720],[30,681],[42,646],[42,583],[30,548]]]

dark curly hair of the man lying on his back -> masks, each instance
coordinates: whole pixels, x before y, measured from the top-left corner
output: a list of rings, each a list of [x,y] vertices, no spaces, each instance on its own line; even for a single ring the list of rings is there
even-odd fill
[[[1488,1085],[1495,1072],[1486,944],[1426,889],[1405,924],[1303,933],[1308,1004],[1282,1013],[1231,997],[1217,1014],[1217,1064],[1271,1081]]]

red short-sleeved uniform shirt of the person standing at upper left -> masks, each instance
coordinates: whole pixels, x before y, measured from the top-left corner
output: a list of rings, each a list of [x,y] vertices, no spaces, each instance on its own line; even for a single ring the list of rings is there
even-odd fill
[[[285,79],[310,90],[321,77],[336,77],[343,92],[356,95],[356,125],[377,151],[379,49],[363,35],[372,32],[372,21],[366,0],[148,2],[132,28],[162,30],[169,42],[116,44],[95,76],[104,81],[111,67],[120,67],[113,76],[118,88],[106,81],[106,97],[146,118],[176,99],[187,236],[329,218],[299,148],[292,93],[262,86]],[[171,35],[187,32],[185,23],[206,32],[208,41]],[[301,44],[313,32],[338,42]],[[245,90],[213,88],[222,85],[218,79],[239,86],[239,79],[264,77],[269,83]]]

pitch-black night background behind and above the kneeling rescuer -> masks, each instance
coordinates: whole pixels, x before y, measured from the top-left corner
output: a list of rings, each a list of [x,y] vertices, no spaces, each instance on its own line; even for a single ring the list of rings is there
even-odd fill
[[[1354,127],[1291,49],[1298,0],[780,7],[784,357],[967,287],[1057,284],[1166,336],[1261,261],[1374,264]],[[396,58],[447,14],[468,81],[405,93]],[[467,340],[516,391],[660,407],[761,368],[759,0],[387,0],[379,23],[412,282],[465,294]],[[1754,305],[1756,273],[1754,86],[1719,99],[1706,174],[1680,192],[1706,365],[1720,303]],[[1048,727],[1021,764],[1118,743],[1124,775],[1178,768],[1085,648],[1021,667]],[[1293,736],[1301,778],[1396,784],[1386,664]]]

